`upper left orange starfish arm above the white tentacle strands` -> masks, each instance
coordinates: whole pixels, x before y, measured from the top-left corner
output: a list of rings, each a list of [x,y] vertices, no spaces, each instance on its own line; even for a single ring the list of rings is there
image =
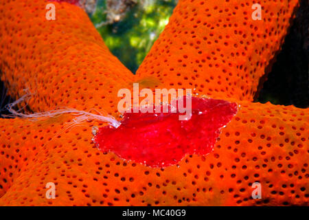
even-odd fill
[[[115,114],[117,91],[132,86],[133,74],[109,52],[81,8],[53,2],[56,20],[47,21],[47,3],[0,3],[1,80],[10,96],[28,89],[33,111],[73,107]]]

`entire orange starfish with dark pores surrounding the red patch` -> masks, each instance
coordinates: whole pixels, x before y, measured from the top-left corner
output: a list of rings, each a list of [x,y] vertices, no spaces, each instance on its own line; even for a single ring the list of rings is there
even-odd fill
[[[24,2],[0,3],[0,14],[3,15],[0,17],[1,78],[16,98],[23,94],[25,87],[29,88],[34,93],[29,103],[34,111],[67,106],[81,110],[95,108],[116,115],[117,89],[130,88],[133,82],[151,88],[196,87],[198,94],[234,100],[240,109],[222,129],[212,153],[187,155],[179,164],[164,169],[135,164],[113,153],[98,151],[91,141],[91,129],[93,124],[102,126],[100,122],[84,122],[65,130],[73,115],[38,121],[1,119],[1,206],[308,205],[308,109],[249,102],[264,74],[265,65],[279,49],[297,1],[264,3],[268,10],[266,14],[279,12],[280,15],[271,17],[271,22],[266,19],[266,25],[250,21],[251,3],[247,5],[246,1],[243,1],[244,6],[242,2],[238,3],[241,11],[231,18],[229,13],[233,14],[233,11],[225,12],[230,8],[225,1],[217,2],[218,8],[209,1],[204,5],[198,5],[203,1],[180,1],[170,24],[137,76],[130,74],[108,52],[87,15],[76,6],[55,3],[58,17],[56,21],[46,21],[45,1]],[[209,9],[210,17],[201,13],[205,7]],[[247,11],[247,16],[243,17],[243,10]],[[186,16],[188,19],[194,17],[194,21],[182,21]],[[196,23],[198,16],[215,26],[217,19],[230,18],[233,27],[238,25],[237,33],[242,31],[240,39],[233,34],[233,28],[221,30],[221,26],[216,26],[218,29],[211,30],[207,25],[205,28],[204,20]],[[270,17],[266,15],[266,18]],[[243,25],[241,19],[246,20],[247,25]],[[253,28],[248,28],[251,22]],[[258,25],[258,32],[254,30],[255,25]],[[190,39],[187,45],[181,46],[185,35],[178,32],[187,30],[191,33],[192,28],[197,39],[206,34],[210,44]],[[260,39],[258,33],[264,34],[263,28],[273,28],[271,36],[274,39],[271,36]],[[69,34],[62,35],[62,31]],[[209,31],[214,36],[210,37]],[[176,33],[179,38],[174,36]],[[220,34],[231,37],[220,40]],[[240,56],[237,56],[237,48],[225,46],[224,40],[233,45],[242,41],[243,34],[250,38],[243,40],[244,43],[249,41],[251,44],[247,45],[247,50],[244,50],[245,45],[238,45]],[[211,55],[217,49],[215,45],[223,58]],[[201,50],[202,54],[195,53],[194,47],[199,47],[196,50]],[[161,54],[167,50],[170,50],[168,55]],[[258,50],[257,54],[255,50]],[[233,58],[231,52],[235,53]],[[206,56],[203,63],[207,53],[211,59],[217,59],[210,62]],[[188,61],[184,67],[181,57],[185,55]],[[164,63],[165,59],[167,62]],[[213,66],[209,67],[209,64]],[[227,76],[229,73],[232,75]],[[225,80],[226,77],[229,80]],[[251,197],[251,185],[255,181],[261,183],[262,199]],[[45,197],[48,182],[56,184],[56,199]]]

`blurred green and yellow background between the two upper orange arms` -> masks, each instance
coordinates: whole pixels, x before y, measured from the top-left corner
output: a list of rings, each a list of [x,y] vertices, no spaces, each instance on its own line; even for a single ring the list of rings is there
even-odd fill
[[[175,0],[137,0],[124,19],[98,28],[109,50],[133,73],[144,60],[159,34],[163,31]],[[98,1],[91,16],[95,25],[106,20],[106,1]]]

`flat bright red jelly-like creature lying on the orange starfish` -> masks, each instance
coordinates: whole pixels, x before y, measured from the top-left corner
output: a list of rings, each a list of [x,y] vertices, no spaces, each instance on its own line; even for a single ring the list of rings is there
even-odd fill
[[[179,120],[185,113],[170,109],[168,113],[124,113],[117,129],[104,126],[93,140],[104,153],[151,167],[171,166],[187,154],[210,153],[220,129],[237,113],[237,104],[192,97],[187,120]]]

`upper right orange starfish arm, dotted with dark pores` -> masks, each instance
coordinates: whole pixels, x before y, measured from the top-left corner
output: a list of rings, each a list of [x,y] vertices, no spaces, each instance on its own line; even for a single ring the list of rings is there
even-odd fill
[[[163,88],[252,101],[298,1],[263,1],[261,21],[251,18],[253,3],[179,1],[137,71],[140,81],[155,78]]]

